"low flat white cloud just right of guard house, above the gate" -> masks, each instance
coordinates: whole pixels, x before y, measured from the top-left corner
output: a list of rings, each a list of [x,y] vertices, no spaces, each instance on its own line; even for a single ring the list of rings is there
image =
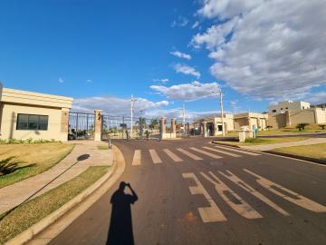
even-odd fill
[[[142,115],[150,110],[168,105],[168,101],[152,102],[143,98],[136,98],[135,116]],[[91,113],[95,109],[103,110],[103,113],[110,115],[125,115],[130,114],[130,99],[117,98],[113,96],[100,96],[74,99],[72,103],[72,111]]]

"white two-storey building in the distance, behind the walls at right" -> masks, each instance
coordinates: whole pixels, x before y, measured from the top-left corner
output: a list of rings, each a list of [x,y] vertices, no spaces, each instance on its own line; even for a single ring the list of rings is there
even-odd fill
[[[285,112],[298,112],[309,108],[310,103],[285,101],[268,106],[268,113],[270,115],[277,115]]]

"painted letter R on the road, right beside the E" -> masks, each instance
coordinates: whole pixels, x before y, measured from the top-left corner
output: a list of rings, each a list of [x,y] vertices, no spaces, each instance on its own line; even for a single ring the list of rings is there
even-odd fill
[[[223,181],[217,178],[217,176],[209,171],[209,174],[212,175],[212,177],[216,180],[212,180],[210,177],[208,177],[204,172],[200,172],[201,175],[203,175],[207,181],[210,181],[212,184],[214,184],[217,193],[222,197],[222,199],[238,214],[241,216],[247,218],[247,219],[259,219],[263,218],[262,215],[259,214],[259,212],[255,211],[252,206],[250,206],[246,201],[244,201],[241,197],[239,197],[235,191],[232,191]],[[231,201],[225,193],[229,193],[236,199],[236,203],[234,201]]]

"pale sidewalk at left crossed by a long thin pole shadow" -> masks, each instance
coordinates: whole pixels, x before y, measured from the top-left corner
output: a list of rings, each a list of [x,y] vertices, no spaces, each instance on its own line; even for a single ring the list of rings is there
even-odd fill
[[[34,197],[41,195],[46,191],[52,190],[65,181],[71,180],[82,171],[85,171],[89,166],[110,166],[113,162],[112,150],[97,149],[98,145],[107,145],[105,142],[75,141],[69,143],[76,143],[76,146],[72,152],[62,160],[62,162],[57,163],[48,171],[44,171],[38,175],[35,175],[34,177],[16,182],[0,189],[0,214],[19,205],[22,201],[33,195],[34,192],[43,188],[50,181],[53,181],[53,179],[60,175],[63,171],[66,172],[64,172],[51,184],[47,185]],[[88,158],[87,154],[89,154]],[[80,161],[77,162],[79,157]],[[73,165],[74,163],[76,164]],[[67,171],[67,169],[69,170]]]

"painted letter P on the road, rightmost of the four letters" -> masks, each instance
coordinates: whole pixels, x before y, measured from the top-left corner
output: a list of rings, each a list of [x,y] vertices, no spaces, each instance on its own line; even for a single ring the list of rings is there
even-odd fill
[[[321,204],[312,201],[306,197],[303,197],[302,195],[291,191],[285,187],[283,187],[280,184],[277,184],[273,181],[269,181],[267,179],[265,179],[264,177],[254,173],[253,171],[249,171],[244,169],[244,171],[254,175],[254,177],[258,178],[256,181],[262,185],[264,188],[266,188],[269,191],[272,191],[274,194],[282,197],[283,199],[287,200],[287,201],[291,201],[292,203],[302,207],[303,209],[309,210],[309,211],[315,211],[315,212],[326,212],[326,207],[322,206]],[[282,192],[280,191],[276,191],[273,187],[276,187],[280,190],[282,190]],[[289,193],[290,195],[294,196],[295,198],[292,198],[290,196],[287,196],[284,192]]]

